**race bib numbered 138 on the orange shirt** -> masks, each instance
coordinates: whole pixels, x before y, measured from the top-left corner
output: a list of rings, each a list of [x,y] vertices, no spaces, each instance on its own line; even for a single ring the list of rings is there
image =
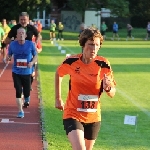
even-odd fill
[[[98,104],[98,95],[82,95],[78,96],[77,111],[96,112]]]

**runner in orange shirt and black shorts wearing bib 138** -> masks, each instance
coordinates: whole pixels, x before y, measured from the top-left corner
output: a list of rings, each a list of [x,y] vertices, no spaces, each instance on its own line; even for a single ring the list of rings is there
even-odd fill
[[[100,97],[105,91],[115,95],[115,81],[109,61],[97,53],[103,36],[97,29],[87,28],[79,37],[83,54],[67,57],[55,76],[55,107],[63,110],[63,124],[73,150],[92,150],[101,123]],[[69,92],[64,105],[61,81],[70,75]]]

